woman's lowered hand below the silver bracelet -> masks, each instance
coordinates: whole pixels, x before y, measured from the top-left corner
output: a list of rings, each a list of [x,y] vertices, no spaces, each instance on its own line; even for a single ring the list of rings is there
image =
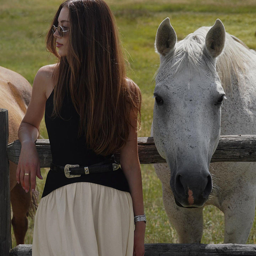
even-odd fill
[[[143,256],[144,249],[144,236],[145,236],[146,223],[144,221],[135,222],[134,230],[134,243],[133,243],[133,256]]]

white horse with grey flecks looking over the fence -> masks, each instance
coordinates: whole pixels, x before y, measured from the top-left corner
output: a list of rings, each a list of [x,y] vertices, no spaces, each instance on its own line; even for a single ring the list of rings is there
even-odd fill
[[[256,54],[220,20],[177,42],[166,18],[156,33],[152,133],[155,164],[180,243],[200,243],[203,206],[225,215],[224,243],[245,244],[255,214],[255,163],[211,163],[220,134],[256,133]],[[221,108],[222,106],[222,108]],[[220,122],[221,119],[221,122]]]

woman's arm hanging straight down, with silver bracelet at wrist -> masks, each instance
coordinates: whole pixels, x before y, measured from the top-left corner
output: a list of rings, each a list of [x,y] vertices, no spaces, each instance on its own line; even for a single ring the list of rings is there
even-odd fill
[[[137,112],[131,111],[130,121],[132,127],[124,148],[120,150],[120,162],[130,187],[133,213],[134,216],[137,216],[144,214],[142,181],[136,132]],[[144,255],[145,229],[146,223],[144,221],[138,221],[135,223],[133,253],[135,253],[136,256]]]

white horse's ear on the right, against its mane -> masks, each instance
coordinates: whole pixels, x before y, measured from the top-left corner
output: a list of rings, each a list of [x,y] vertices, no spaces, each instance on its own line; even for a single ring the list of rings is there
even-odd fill
[[[225,45],[226,31],[222,22],[217,19],[205,37],[205,46],[208,53],[216,58],[222,52]]]

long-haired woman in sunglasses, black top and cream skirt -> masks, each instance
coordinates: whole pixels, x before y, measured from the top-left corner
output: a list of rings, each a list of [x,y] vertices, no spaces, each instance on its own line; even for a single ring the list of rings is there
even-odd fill
[[[143,255],[136,132],[141,95],[125,77],[109,7],[102,0],[64,2],[46,44],[59,62],[37,72],[18,132],[17,181],[34,191],[36,176],[42,179],[34,141],[45,110],[52,164],[32,255]],[[112,156],[117,149],[121,168]]]

